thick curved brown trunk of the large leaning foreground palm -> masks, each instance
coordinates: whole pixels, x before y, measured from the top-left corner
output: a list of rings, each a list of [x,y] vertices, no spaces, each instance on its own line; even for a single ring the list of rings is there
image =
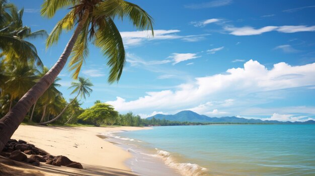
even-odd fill
[[[23,121],[25,115],[35,103],[35,101],[49,88],[54,82],[58,74],[67,62],[68,57],[72,51],[74,43],[80,34],[84,24],[89,16],[89,8],[84,11],[82,19],[78,23],[76,29],[69,42],[67,43],[63,53],[56,62],[56,64],[37,82],[9,111],[2,119],[0,119],[0,151],[9,141],[15,130]]]

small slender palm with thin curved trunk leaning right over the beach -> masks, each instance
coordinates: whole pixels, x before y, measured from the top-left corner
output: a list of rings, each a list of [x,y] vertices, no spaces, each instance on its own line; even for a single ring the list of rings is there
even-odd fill
[[[92,87],[93,84],[91,83],[91,81],[89,80],[89,78],[85,79],[83,77],[78,77],[78,82],[72,82],[71,86],[69,88],[74,88],[74,90],[71,92],[71,94],[74,94],[77,92],[77,95],[70,101],[70,103],[68,103],[64,109],[60,112],[59,115],[57,115],[54,119],[49,120],[47,122],[43,122],[43,123],[38,123],[41,125],[47,125],[55,120],[57,120],[59,117],[61,117],[61,115],[63,114],[63,112],[67,109],[67,107],[80,95],[81,98],[83,97],[84,99],[86,99],[86,95],[90,96],[90,93],[92,92],[92,89],[90,87]]]

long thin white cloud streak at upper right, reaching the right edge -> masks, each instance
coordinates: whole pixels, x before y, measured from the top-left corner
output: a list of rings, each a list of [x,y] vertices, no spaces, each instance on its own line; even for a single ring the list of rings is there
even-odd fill
[[[226,26],[224,27],[224,30],[230,32],[229,34],[234,36],[252,36],[271,31],[278,31],[280,33],[313,32],[315,31],[315,26],[266,26],[259,29],[253,27],[235,28]]]

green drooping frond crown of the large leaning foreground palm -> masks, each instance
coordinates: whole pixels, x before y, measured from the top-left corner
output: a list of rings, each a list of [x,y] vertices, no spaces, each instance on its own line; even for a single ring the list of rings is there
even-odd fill
[[[73,46],[69,70],[72,77],[77,79],[81,67],[89,54],[89,43],[99,47],[110,68],[108,81],[118,81],[125,65],[125,50],[123,41],[114,19],[123,20],[125,17],[139,30],[150,30],[153,35],[152,18],[135,4],[122,0],[46,0],[42,5],[41,15],[52,18],[56,11],[70,8],[47,38],[46,47],[57,43],[63,30],[72,30],[83,16],[85,10],[89,16]]]

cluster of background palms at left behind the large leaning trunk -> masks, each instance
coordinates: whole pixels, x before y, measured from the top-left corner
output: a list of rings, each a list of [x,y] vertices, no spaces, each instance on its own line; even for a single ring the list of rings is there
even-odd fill
[[[23,25],[23,9],[18,10],[15,5],[6,4],[4,1],[1,4],[0,27],[2,30],[0,36],[3,39],[1,43],[6,47],[2,47],[0,60],[0,114],[4,116],[49,69],[43,66],[37,56],[35,46],[27,41],[27,39],[48,36],[46,31],[31,32],[29,27]],[[14,42],[15,40],[18,42]],[[17,46],[14,44],[17,44]],[[18,50],[15,50],[15,47]],[[28,111],[26,120],[48,124],[59,119],[60,123],[64,123],[68,122],[70,117],[73,117],[73,112],[80,112],[81,103],[77,97],[81,95],[85,98],[86,94],[90,95],[92,92],[90,87],[93,84],[89,79],[81,77],[78,82],[73,82],[70,88],[74,89],[72,94],[77,93],[77,95],[67,103],[62,93],[57,89],[57,87],[60,87],[57,83],[59,80],[60,78],[56,78],[40,98],[35,101],[33,107]],[[67,108],[68,106],[69,108]],[[67,110],[67,113],[61,116],[65,110]]]

